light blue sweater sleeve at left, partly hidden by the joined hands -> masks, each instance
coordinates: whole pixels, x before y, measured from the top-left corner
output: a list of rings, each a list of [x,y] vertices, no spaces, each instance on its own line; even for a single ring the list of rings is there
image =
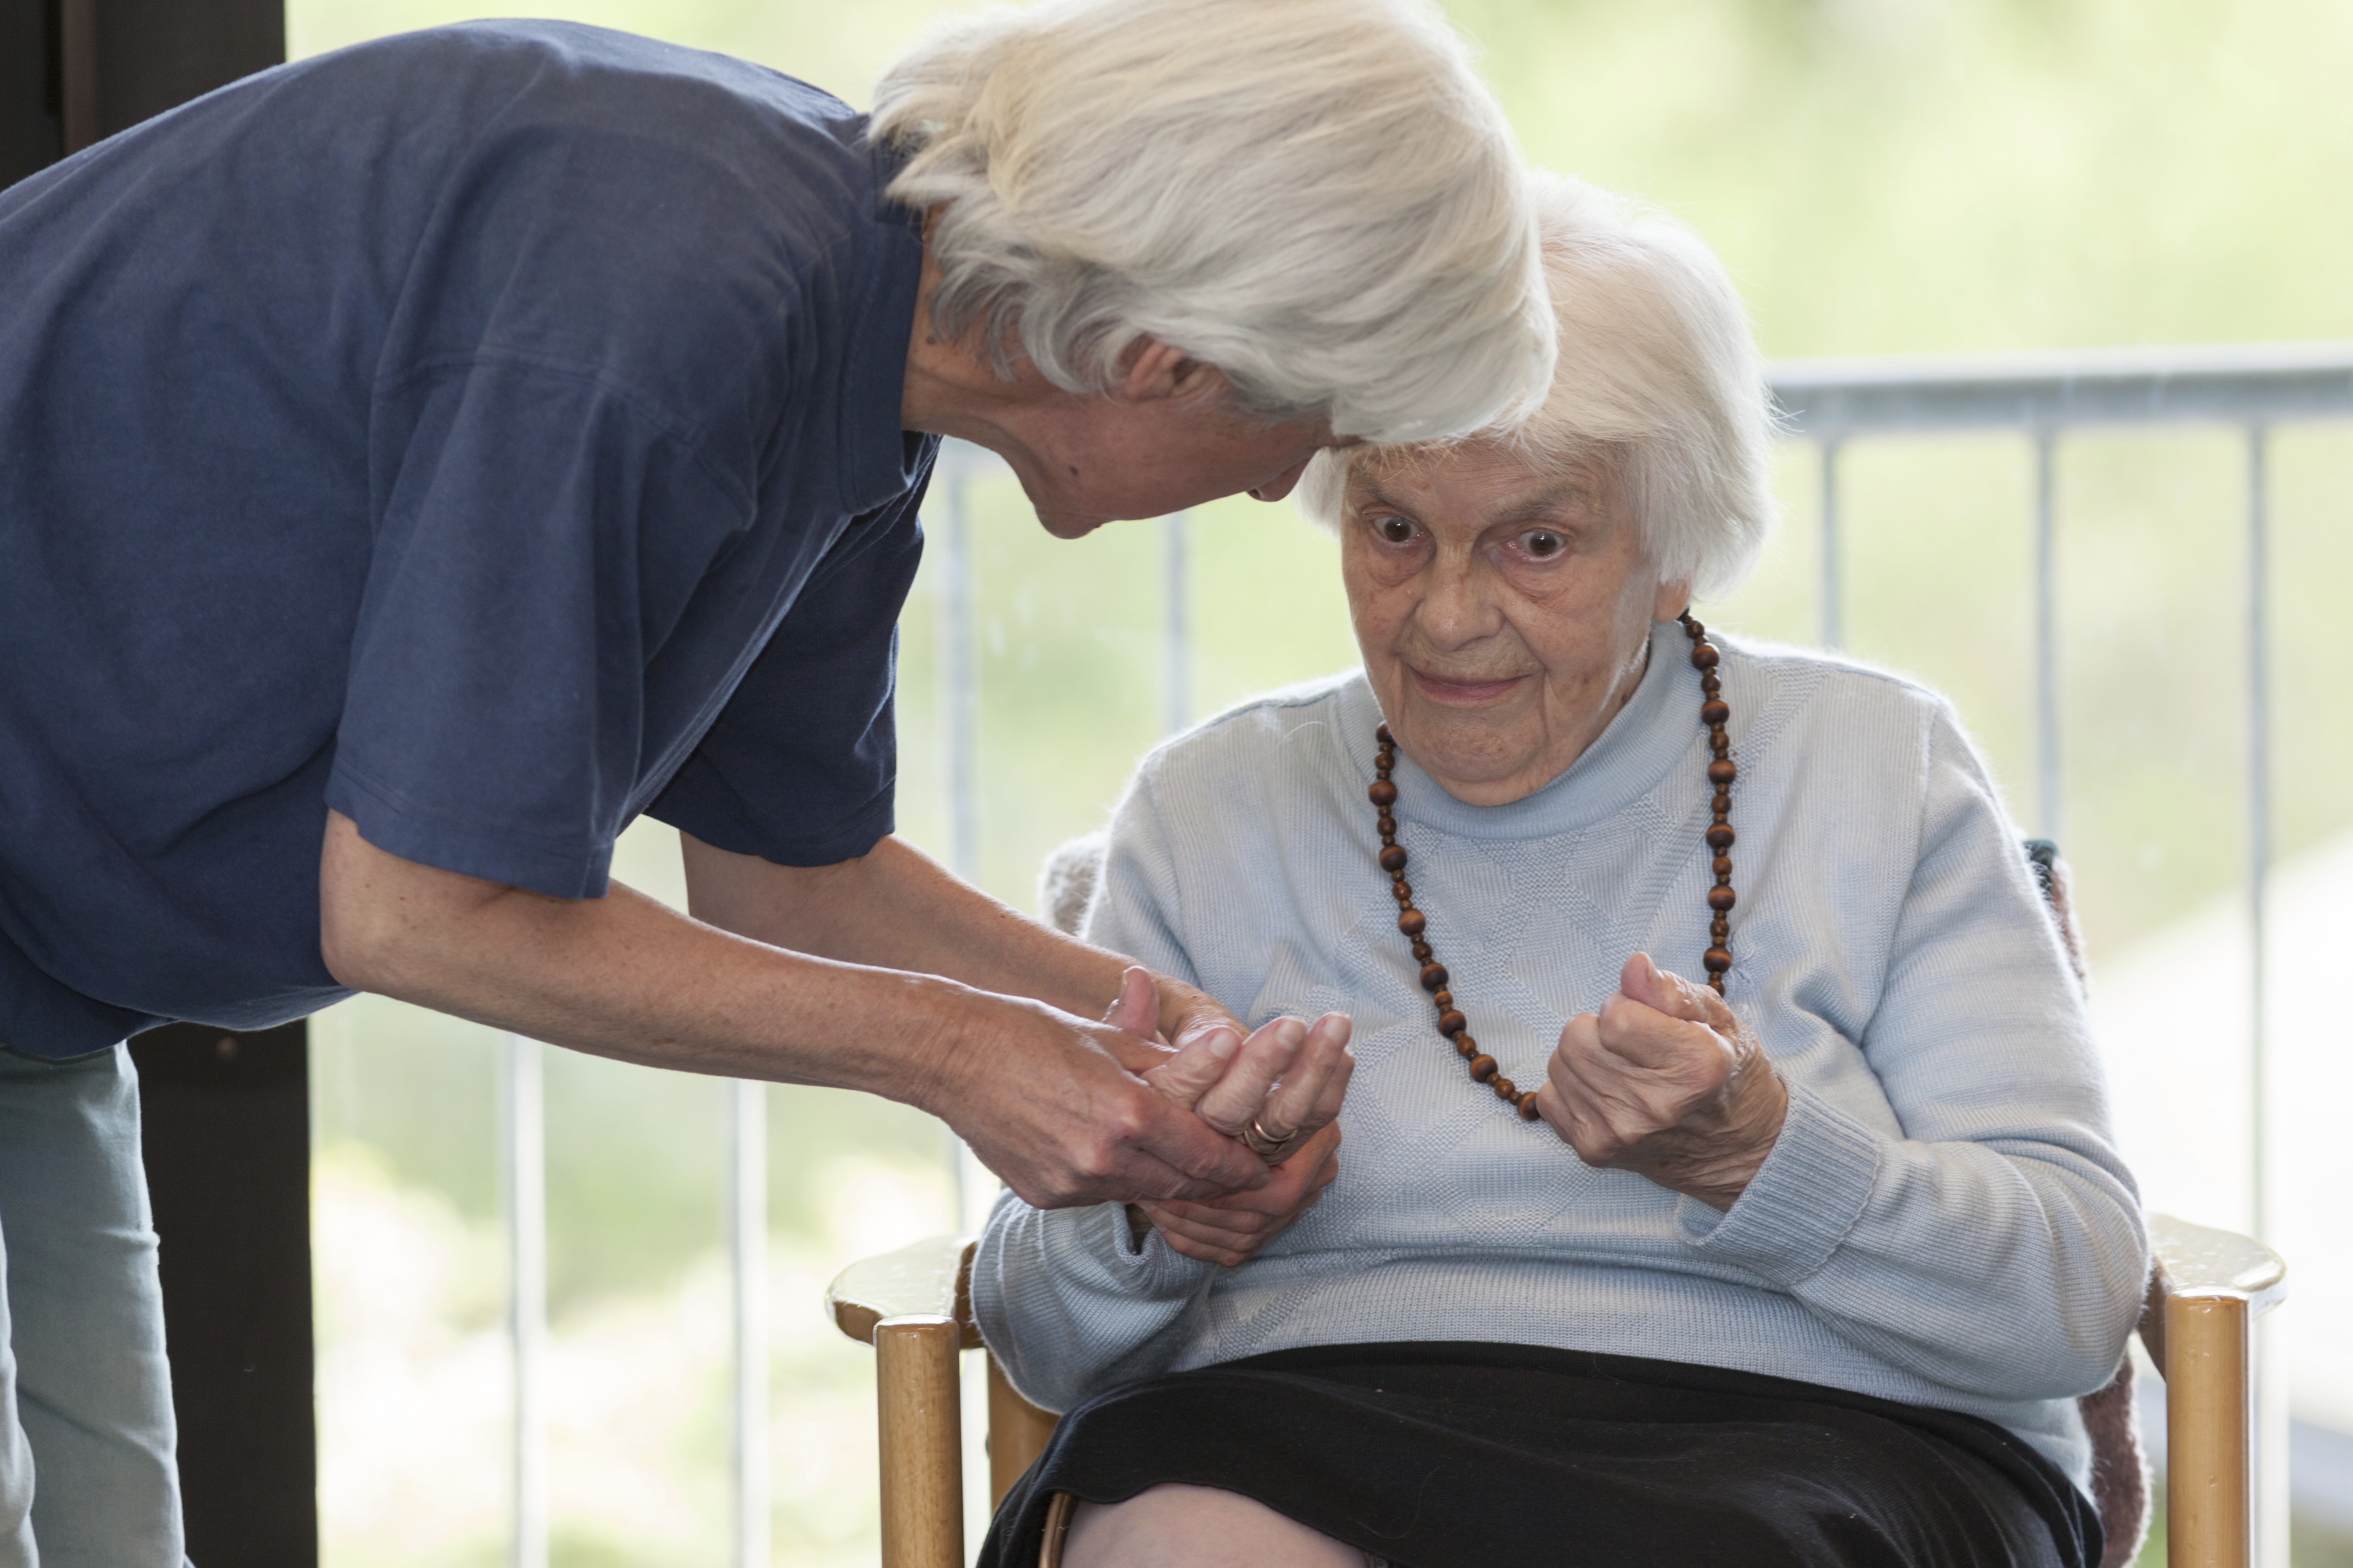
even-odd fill
[[[1085,936],[1191,985],[1151,778],[1146,764],[1111,818]],[[972,1314],[1021,1396],[1068,1410],[1094,1389],[1167,1371],[1214,1274],[1160,1232],[1139,1244],[1120,1204],[1040,1211],[1007,1192],[972,1260]]]

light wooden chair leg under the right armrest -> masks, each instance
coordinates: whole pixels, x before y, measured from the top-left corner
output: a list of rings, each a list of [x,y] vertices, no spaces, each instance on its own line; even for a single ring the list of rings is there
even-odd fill
[[[2165,1302],[2165,1556],[2247,1568],[2254,1537],[2247,1300]]]

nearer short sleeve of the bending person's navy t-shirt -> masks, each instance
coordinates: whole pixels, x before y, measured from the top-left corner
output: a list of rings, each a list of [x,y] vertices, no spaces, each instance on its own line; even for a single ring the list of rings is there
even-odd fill
[[[376,849],[553,898],[605,891],[645,665],[751,522],[661,409],[480,355],[388,397],[381,508],[327,804]]]

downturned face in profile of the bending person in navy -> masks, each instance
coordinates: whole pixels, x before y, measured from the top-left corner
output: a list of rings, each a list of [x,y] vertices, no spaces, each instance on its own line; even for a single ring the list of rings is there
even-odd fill
[[[1056,538],[1122,517],[1165,517],[1219,496],[1282,501],[1332,440],[1325,421],[1259,423],[1207,395],[1125,402],[1066,395],[1068,407],[1016,461],[1038,522]]]

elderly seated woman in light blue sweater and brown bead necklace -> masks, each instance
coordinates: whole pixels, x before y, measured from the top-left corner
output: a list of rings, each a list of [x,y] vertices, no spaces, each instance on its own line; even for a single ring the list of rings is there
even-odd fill
[[[1934,691],[1689,616],[1772,515],[1746,320],[1544,190],[1551,397],[1318,458],[1362,670],[1158,750],[1087,914],[1348,1013],[1346,1173],[1271,1239],[1000,1199],[974,1314],[1068,1415],[986,1563],[2099,1559],[2146,1239],[2061,940]]]

